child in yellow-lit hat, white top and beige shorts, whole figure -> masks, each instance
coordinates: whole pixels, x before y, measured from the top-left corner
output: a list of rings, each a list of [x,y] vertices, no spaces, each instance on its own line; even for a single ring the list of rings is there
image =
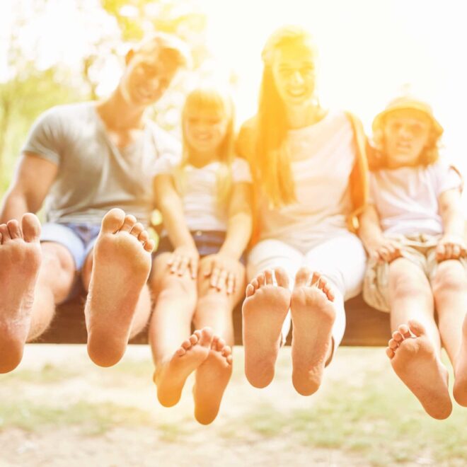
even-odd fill
[[[374,120],[379,152],[372,204],[362,217],[369,253],[364,299],[390,311],[386,353],[434,418],[452,410],[441,345],[454,367],[454,398],[467,407],[467,261],[459,173],[438,160],[442,127],[420,100],[393,100]],[[437,322],[434,310],[437,312]]]

